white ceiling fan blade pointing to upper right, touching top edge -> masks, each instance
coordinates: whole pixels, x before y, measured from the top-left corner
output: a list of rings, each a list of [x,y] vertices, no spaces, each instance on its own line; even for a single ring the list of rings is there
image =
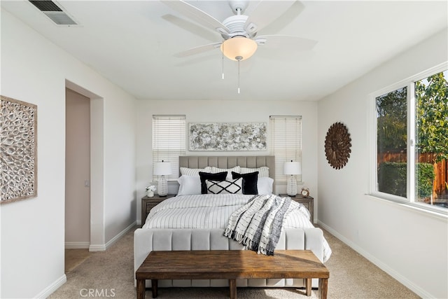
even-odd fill
[[[260,31],[279,18],[295,4],[295,1],[260,1],[258,6],[248,15],[244,29],[248,33]]]

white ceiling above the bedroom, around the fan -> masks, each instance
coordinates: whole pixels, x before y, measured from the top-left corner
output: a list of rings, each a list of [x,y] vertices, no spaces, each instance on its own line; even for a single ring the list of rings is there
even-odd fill
[[[251,1],[250,15],[260,1]],[[80,24],[58,27],[29,1],[1,7],[138,99],[318,100],[447,27],[447,1],[297,1],[258,35],[318,41],[310,51],[259,47],[240,64],[219,48],[174,54],[221,35],[160,1],[57,1]],[[221,22],[228,1],[188,1]],[[430,53],[428,53],[430,55]]]

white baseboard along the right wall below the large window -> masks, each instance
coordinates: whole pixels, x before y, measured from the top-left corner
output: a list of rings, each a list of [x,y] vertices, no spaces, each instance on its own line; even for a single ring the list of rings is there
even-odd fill
[[[400,284],[403,284],[404,286],[409,288],[409,290],[411,290],[414,293],[416,293],[417,295],[419,295],[421,298],[435,298],[434,295],[431,295],[427,291],[423,290],[423,288],[421,288],[419,286],[416,286],[412,281],[409,281],[409,279],[407,279],[406,277],[402,276],[402,274],[400,274],[399,272],[396,272],[394,269],[392,269],[391,267],[389,267],[388,265],[383,263],[381,260],[379,260],[379,259],[375,258],[374,256],[372,256],[370,253],[365,251],[363,248],[361,248],[357,244],[351,242],[349,239],[346,239],[346,237],[344,237],[343,235],[339,234],[339,232],[337,232],[336,230],[333,230],[332,228],[330,228],[328,225],[325,225],[325,223],[322,223],[321,221],[317,221],[317,222],[318,222],[318,225],[321,225],[322,228],[324,228],[325,230],[330,232],[331,235],[337,237],[337,239],[339,239],[342,242],[344,242],[351,249],[353,249],[354,251],[358,252],[361,256],[367,258],[367,260],[369,260],[370,263],[376,265],[381,270],[383,270],[387,274],[391,275],[391,277],[393,277],[394,279],[400,281]]]

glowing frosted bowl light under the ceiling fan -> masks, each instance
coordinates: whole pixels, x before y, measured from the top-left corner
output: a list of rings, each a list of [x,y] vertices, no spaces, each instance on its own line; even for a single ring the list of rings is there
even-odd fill
[[[257,48],[258,44],[253,39],[248,39],[244,36],[235,36],[232,39],[223,41],[221,44],[221,51],[223,51],[225,57],[235,61],[248,59],[255,53]]]

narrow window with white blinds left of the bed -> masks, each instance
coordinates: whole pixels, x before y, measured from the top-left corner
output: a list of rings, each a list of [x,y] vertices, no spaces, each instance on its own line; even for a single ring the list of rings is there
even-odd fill
[[[179,156],[186,153],[185,116],[153,116],[153,165],[162,160],[171,162],[172,174],[179,177]]]

